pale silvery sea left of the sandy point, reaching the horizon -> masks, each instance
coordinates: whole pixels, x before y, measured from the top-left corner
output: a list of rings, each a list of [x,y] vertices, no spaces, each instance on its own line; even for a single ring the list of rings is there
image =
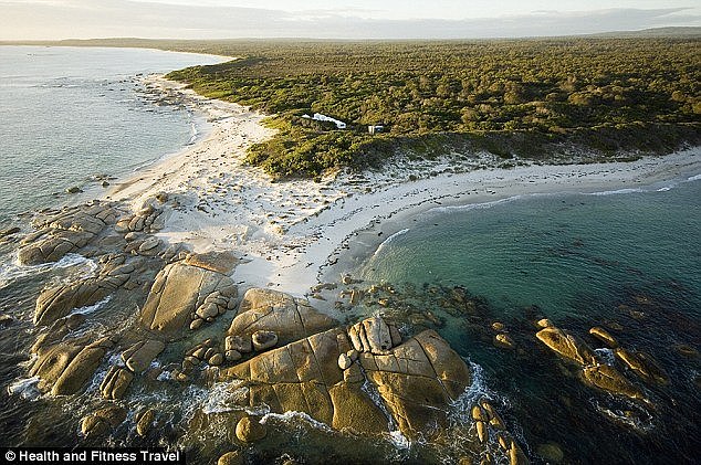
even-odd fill
[[[156,106],[139,74],[221,57],[137,49],[0,46],[0,226],[66,188],[124,176],[181,149],[196,117]]]

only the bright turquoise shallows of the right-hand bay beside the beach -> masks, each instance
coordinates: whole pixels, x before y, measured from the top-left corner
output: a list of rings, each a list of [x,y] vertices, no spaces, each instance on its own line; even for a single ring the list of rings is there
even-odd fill
[[[683,287],[698,298],[701,181],[662,189],[436,209],[384,244],[362,276],[463,285],[506,315],[538,305],[555,319],[583,296],[628,287]]]

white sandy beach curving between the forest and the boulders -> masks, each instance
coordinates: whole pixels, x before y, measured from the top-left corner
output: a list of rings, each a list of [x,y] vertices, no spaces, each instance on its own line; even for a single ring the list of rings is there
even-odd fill
[[[168,219],[159,236],[185,242],[198,252],[234,251],[247,262],[236,270],[237,282],[293,295],[308,293],[320,271],[337,260],[358,231],[391,234],[389,219],[394,223],[438,205],[514,195],[636,189],[701,172],[695,148],[634,162],[509,169],[483,169],[499,160],[474,155],[460,170],[448,161],[411,167],[397,162],[381,172],[339,173],[322,182],[272,182],[262,170],[243,162],[251,144],[273,134],[261,125],[263,115],[203,98],[160,77],[153,83],[166,93],[181,93],[189,107],[207,117],[211,133],[117,183],[107,198],[129,202],[136,210],[149,197],[168,193]],[[430,171],[433,176],[427,176]],[[420,179],[409,181],[410,173]]]

